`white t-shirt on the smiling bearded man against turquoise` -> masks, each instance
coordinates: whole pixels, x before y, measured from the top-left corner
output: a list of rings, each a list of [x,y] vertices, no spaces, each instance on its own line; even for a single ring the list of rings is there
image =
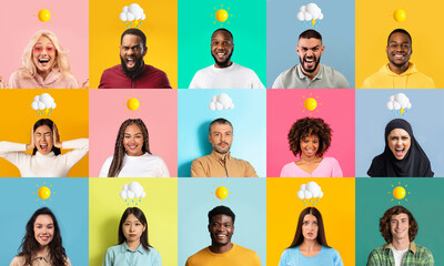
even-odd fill
[[[231,64],[219,69],[214,64],[199,70],[191,81],[190,89],[265,89],[253,70]]]

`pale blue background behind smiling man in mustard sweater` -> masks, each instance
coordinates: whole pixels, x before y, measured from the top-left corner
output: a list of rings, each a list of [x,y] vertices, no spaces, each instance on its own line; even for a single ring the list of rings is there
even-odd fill
[[[185,265],[188,257],[211,245],[208,213],[219,205],[230,207],[235,214],[232,243],[253,249],[262,265],[266,264],[265,178],[179,178],[178,182],[178,265]],[[230,193],[222,201],[211,194],[219,186]]]

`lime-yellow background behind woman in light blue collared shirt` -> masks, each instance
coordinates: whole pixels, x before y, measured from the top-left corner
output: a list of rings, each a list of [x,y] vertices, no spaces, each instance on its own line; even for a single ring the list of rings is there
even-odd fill
[[[129,206],[119,196],[124,184],[137,181],[147,196]],[[90,265],[102,265],[107,249],[118,244],[119,222],[127,207],[139,207],[148,221],[148,239],[162,265],[178,265],[176,178],[90,178]]]

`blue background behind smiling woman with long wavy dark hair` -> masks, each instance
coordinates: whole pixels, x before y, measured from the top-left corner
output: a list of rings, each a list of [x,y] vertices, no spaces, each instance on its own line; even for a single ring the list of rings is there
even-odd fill
[[[46,204],[37,195],[37,185],[52,185],[49,187],[51,196],[44,200]],[[0,265],[9,265],[18,254],[27,223],[41,207],[49,207],[56,215],[71,264],[88,265],[88,178],[1,178],[1,186]]]

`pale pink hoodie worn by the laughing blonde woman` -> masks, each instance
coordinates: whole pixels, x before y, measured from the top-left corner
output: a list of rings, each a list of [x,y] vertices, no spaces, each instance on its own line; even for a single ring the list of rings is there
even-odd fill
[[[63,76],[58,70],[52,70],[47,79],[38,73],[34,78],[22,75],[22,70],[11,74],[9,79],[10,89],[79,89],[79,83],[73,75]]]

